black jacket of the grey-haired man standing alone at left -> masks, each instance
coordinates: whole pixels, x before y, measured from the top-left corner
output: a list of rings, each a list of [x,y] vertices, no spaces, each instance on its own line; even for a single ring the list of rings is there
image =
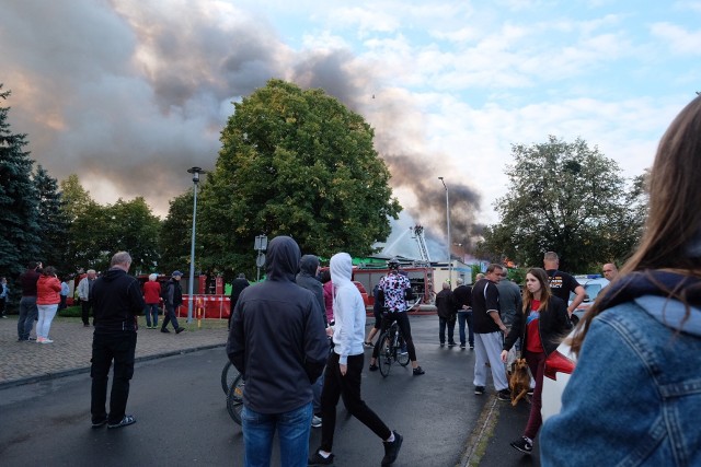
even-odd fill
[[[95,279],[92,301],[95,334],[136,331],[136,317],[146,307],[139,281],[119,268]]]

